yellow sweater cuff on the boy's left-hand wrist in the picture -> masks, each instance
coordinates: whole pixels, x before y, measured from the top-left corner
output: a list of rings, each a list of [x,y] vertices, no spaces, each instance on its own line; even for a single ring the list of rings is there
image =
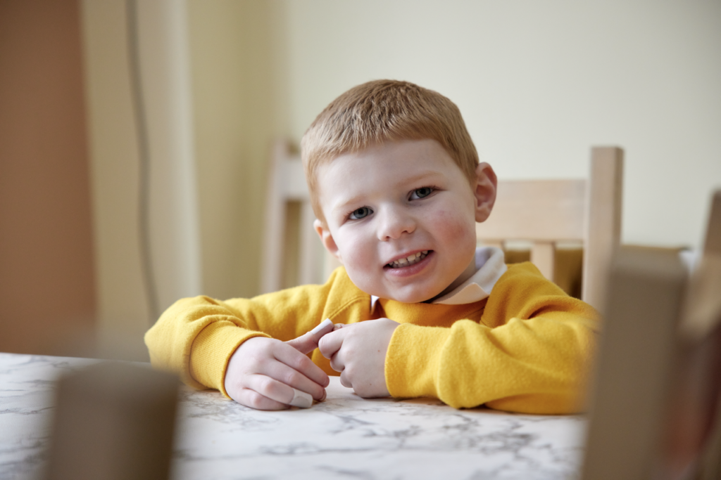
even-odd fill
[[[213,322],[200,330],[190,350],[190,375],[200,384],[221,391],[225,389],[225,373],[235,350],[253,337],[270,337],[262,332],[246,330],[233,322]]]

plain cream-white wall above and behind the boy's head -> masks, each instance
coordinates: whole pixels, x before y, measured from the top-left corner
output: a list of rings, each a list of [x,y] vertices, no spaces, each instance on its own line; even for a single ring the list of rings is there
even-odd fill
[[[501,178],[626,151],[623,240],[698,246],[721,187],[721,2],[287,0],[298,141],[338,94],[398,78],[459,105]]]

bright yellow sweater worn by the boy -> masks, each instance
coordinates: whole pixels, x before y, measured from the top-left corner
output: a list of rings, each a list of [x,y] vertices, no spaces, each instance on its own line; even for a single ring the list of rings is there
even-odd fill
[[[198,296],[167,309],[146,333],[151,363],[177,371],[196,388],[227,396],[224,376],[248,338],[291,340],[322,320],[401,323],[386,354],[394,397],[435,397],[456,408],[578,412],[598,329],[598,314],[544,279],[531,263],[510,265],[487,299],[471,304],[404,304],[371,298],[340,267],[324,285],[298,286],[252,299]],[[319,350],[312,360],[338,373]]]

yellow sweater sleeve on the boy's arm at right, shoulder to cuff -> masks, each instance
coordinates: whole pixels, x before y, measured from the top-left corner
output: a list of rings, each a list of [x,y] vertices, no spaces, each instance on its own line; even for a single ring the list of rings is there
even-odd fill
[[[493,287],[480,322],[398,327],[386,385],[394,397],[436,397],[456,408],[578,412],[598,320],[531,263],[513,266]]]

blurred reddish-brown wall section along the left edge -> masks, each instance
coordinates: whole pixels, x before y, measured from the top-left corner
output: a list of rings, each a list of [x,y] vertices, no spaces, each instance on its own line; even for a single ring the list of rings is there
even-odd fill
[[[81,355],[95,326],[79,5],[0,1],[0,351]]]

